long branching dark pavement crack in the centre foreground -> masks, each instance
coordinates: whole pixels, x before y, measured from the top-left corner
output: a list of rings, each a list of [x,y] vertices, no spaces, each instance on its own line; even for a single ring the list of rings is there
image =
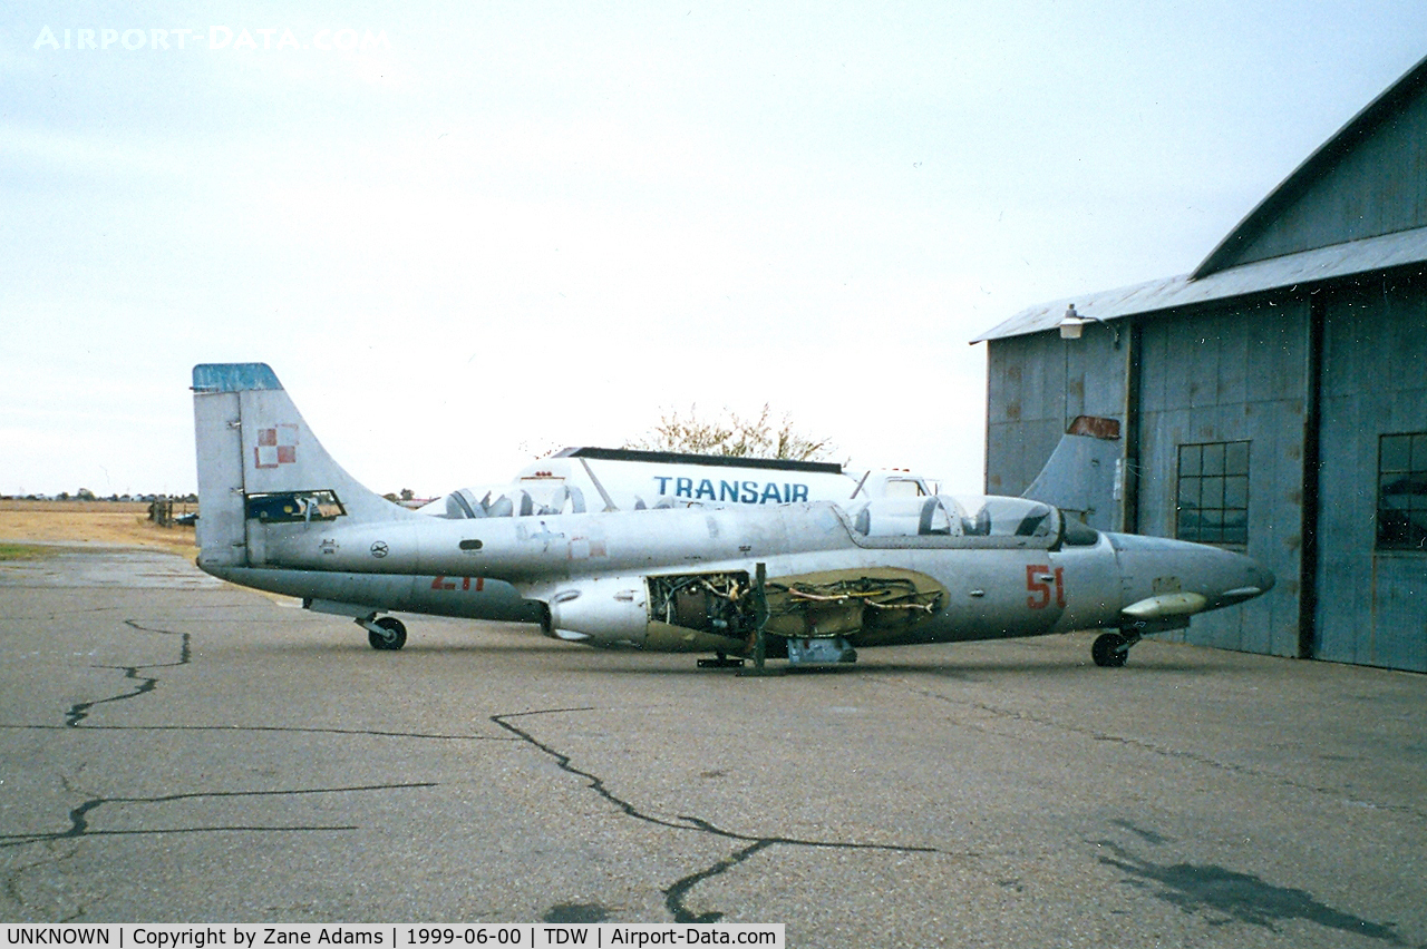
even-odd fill
[[[668,908],[668,911],[674,916],[675,922],[681,922],[681,923],[709,923],[709,922],[718,922],[719,919],[722,919],[723,913],[718,912],[718,911],[712,911],[712,912],[706,912],[706,913],[695,913],[695,912],[692,912],[685,905],[685,898],[701,882],[704,882],[706,879],[711,879],[714,876],[719,876],[721,873],[725,873],[725,872],[733,869],[735,866],[739,866],[748,858],[751,858],[755,854],[759,854],[759,852],[762,852],[765,849],[769,849],[773,845],[811,846],[811,848],[843,849],[843,851],[889,851],[889,852],[895,852],[895,854],[940,854],[942,852],[942,851],[939,851],[935,846],[906,846],[906,845],[896,845],[896,844],[848,844],[848,842],[843,842],[843,841],[818,841],[818,839],[793,838],[793,836],[758,836],[758,835],[751,835],[751,834],[738,834],[735,831],[728,831],[728,829],[716,826],[715,824],[712,824],[709,821],[705,821],[702,818],[698,818],[698,816],[691,816],[691,815],[681,814],[681,815],[678,815],[678,819],[671,821],[671,819],[666,819],[666,818],[655,816],[652,814],[645,814],[638,807],[635,807],[632,802],[629,802],[629,801],[618,797],[614,791],[611,791],[609,787],[605,784],[604,778],[601,778],[599,775],[595,775],[595,774],[592,774],[589,771],[584,771],[581,768],[577,768],[575,765],[571,764],[571,757],[569,755],[564,754],[562,751],[557,751],[551,745],[548,745],[548,744],[539,741],[538,738],[535,738],[531,732],[528,732],[524,728],[519,728],[519,727],[511,724],[509,721],[507,721],[508,718],[522,718],[522,717],[527,717],[527,715],[554,715],[554,714],[585,712],[585,711],[595,711],[595,708],[594,707],[581,707],[581,708],[542,708],[542,710],[528,711],[528,712],[509,712],[509,714],[502,714],[502,715],[491,715],[491,721],[495,722],[498,727],[504,728],[505,731],[517,735],[521,741],[527,742],[532,748],[537,748],[542,754],[554,758],[555,764],[559,767],[561,771],[565,771],[567,774],[572,774],[575,777],[579,777],[579,778],[584,778],[585,781],[588,781],[588,787],[589,787],[591,791],[594,791],[601,798],[604,798],[605,801],[608,801],[609,804],[612,804],[614,807],[616,807],[626,816],[631,816],[631,818],[634,818],[636,821],[644,821],[646,824],[654,824],[656,826],[666,826],[666,828],[671,828],[671,829],[675,829],[675,831],[695,831],[698,834],[708,834],[708,835],[719,836],[719,838],[723,838],[723,839],[728,839],[728,841],[742,841],[742,842],[748,844],[748,846],[742,846],[742,848],[733,851],[731,855],[728,855],[723,859],[719,859],[718,862],[712,864],[711,866],[706,866],[706,868],[704,868],[701,871],[696,871],[694,873],[688,873],[686,876],[681,876],[679,879],[674,881],[674,883],[671,883],[668,888],[665,888],[664,891],[661,891],[664,893],[664,905],[665,905],[665,908]]]

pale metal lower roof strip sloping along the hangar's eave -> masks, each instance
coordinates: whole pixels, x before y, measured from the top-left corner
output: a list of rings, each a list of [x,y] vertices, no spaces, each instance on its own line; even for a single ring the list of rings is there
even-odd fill
[[[1020,311],[972,342],[979,343],[987,339],[1006,339],[1055,329],[1070,304],[1075,304],[1076,313],[1080,316],[1112,321],[1136,313],[1153,313],[1177,306],[1210,304],[1233,296],[1291,288],[1300,284],[1384,271],[1423,261],[1427,261],[1427,228],[1398,231],[1397,234],[1256,261],[1227,271],[1217,271],[1200,279],[1193,279],[1186,274],[1037,304]]]

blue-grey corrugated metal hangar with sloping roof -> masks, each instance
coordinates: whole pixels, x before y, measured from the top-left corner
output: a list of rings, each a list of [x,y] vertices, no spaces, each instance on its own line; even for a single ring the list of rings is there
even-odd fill
[[[989,331],[986,490],[1062,436],[1104,529],[1244,550],[1279,577],[1203,645],[1427,671],[1427,60],[1192,274]]]

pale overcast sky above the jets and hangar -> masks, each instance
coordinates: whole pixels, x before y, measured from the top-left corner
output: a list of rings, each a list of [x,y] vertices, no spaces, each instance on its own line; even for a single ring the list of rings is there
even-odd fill
[[[0,493],[193,490],[248,361],[380,492],[765,402],[976,492],[968,341],[1193,269],[1427,54],[1421,0],[146,6],[0,11]]]

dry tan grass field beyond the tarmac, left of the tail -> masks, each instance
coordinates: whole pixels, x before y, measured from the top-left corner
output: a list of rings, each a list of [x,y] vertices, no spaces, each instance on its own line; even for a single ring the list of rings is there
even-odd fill
[[[17,549],[34,540],[194,550],[193,527],[154,524],[144,502],[0,500],[0,560],[30,556]]]

